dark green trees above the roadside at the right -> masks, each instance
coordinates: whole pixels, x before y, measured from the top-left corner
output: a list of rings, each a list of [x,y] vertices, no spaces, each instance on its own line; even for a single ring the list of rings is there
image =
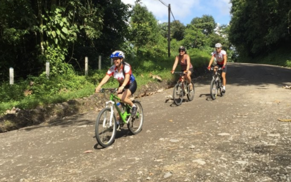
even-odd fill
[[[239,55],[257,57],[290,44],[289,0],[231,0],[229,40]]]

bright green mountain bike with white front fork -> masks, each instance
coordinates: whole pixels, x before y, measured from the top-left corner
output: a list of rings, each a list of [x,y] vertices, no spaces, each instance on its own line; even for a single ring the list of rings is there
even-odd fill
[[[127,124],[130,133],[133,135],[136,135],[142,131],[144,123],[144,111],[139,101],[132,101],[134,105],[137,106],[137,113],[135,116],[131,116],[131,107],[127,104],[123,104],[120,98],[114,94],[117,89],[100,90],[102,93],[105,91],[110,91],[110,100],[106,102],[105,108],[99,112],[95,124],[95,136],[98,144],[102,147],[110,146],[113,143],[117,132],[114,107],[120,116],[119,127],[123,127],[125,124]],[[123,112],[121,112],[121,109],[117,106],[118,102],[122,104]]]

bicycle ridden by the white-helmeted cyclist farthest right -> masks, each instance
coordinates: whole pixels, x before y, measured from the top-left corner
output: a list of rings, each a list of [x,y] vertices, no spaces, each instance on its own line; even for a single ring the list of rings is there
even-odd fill
[[[222,97],[224,93],[222,92],[222,68],[211,68],[211,70],[217,69],[216,72],[212,74],[212,80],[210,83],[210,96],[213,100],[216,99],[218,95],[218,90],[220,92],[220,96]]]

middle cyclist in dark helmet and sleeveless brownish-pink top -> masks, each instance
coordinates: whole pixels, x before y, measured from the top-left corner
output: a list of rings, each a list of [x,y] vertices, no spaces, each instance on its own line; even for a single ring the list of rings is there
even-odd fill
[[[184,72],[184,74],[185,74],[182,78],[183,79],[184,79],[184,77],[186,78],[186,80],[189,83],[189,89],[190,89],[190,91],[192,91],[193,85],[191,83],[191,75],[193,73],[193,66],[190,62],[190,56],[187,54],[186,48],[184,46],[180,46],[178,51],[179,51],[179,55],[176,56],[171,73],[174,74],[175,69],[179,63],[181,66],[181,71]]]

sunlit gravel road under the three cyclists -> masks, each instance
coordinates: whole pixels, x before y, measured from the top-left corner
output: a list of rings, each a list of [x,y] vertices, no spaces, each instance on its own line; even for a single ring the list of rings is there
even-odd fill
[[[173,89],[138,99],[142,132],[105,149],[93,111],[1,133],[0,182],[291,181],[291,69],[229,63],[226,78],[216,100],[210,76],[180,106]]]

